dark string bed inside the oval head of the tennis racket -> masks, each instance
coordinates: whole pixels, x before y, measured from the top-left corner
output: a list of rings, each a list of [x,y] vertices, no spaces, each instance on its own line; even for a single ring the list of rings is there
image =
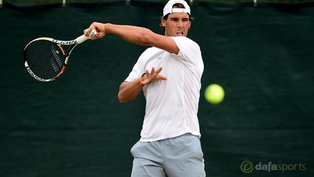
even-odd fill
[[[56,77],[64,64],[62,47],[49,40],[36,40],[30,43],[24,55],[31,71],[40,78]]]

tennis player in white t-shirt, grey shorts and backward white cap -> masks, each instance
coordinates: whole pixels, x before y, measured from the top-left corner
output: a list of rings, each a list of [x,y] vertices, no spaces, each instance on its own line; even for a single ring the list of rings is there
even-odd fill
[[[143,91],[146,111],[141,139],[132,147],[132,175],[206,176],[200,142],[198,107],[204,64],[199,45],[187,38],[193,18],[184,0],[170,0],[163,11],[165,35],[136,26],[94,22],[85,35],[98,29],[94,38],[115,34],[144,51],[120,85],[121,102]]]

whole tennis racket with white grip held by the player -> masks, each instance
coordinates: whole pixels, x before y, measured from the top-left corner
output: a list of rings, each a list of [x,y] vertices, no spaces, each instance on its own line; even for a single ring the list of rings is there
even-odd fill
[[[90,36],[94,37],[95,30]],[[63,41],[50,37],[40,37],[30,41],[23,53],[23,61],[28,73],[43,82],[53,81],[64,72],[73,49],[88,39],[84,34],[74,40]],[[62,46],[69,45],[65,53]]]

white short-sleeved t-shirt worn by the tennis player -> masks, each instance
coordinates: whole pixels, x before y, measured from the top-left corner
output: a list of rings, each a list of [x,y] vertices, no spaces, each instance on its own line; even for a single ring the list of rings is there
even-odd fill
[[[172,37],[178,55],[148,48],[139,57],[126,81],[137,80],[146,69],[163,70],[167,80],[152,81],[143,87],[146,111],[141,131],[142,142],[173,138],[190,132],[201,136],[198,108],[204,64],[199,45],[183,36]]]

